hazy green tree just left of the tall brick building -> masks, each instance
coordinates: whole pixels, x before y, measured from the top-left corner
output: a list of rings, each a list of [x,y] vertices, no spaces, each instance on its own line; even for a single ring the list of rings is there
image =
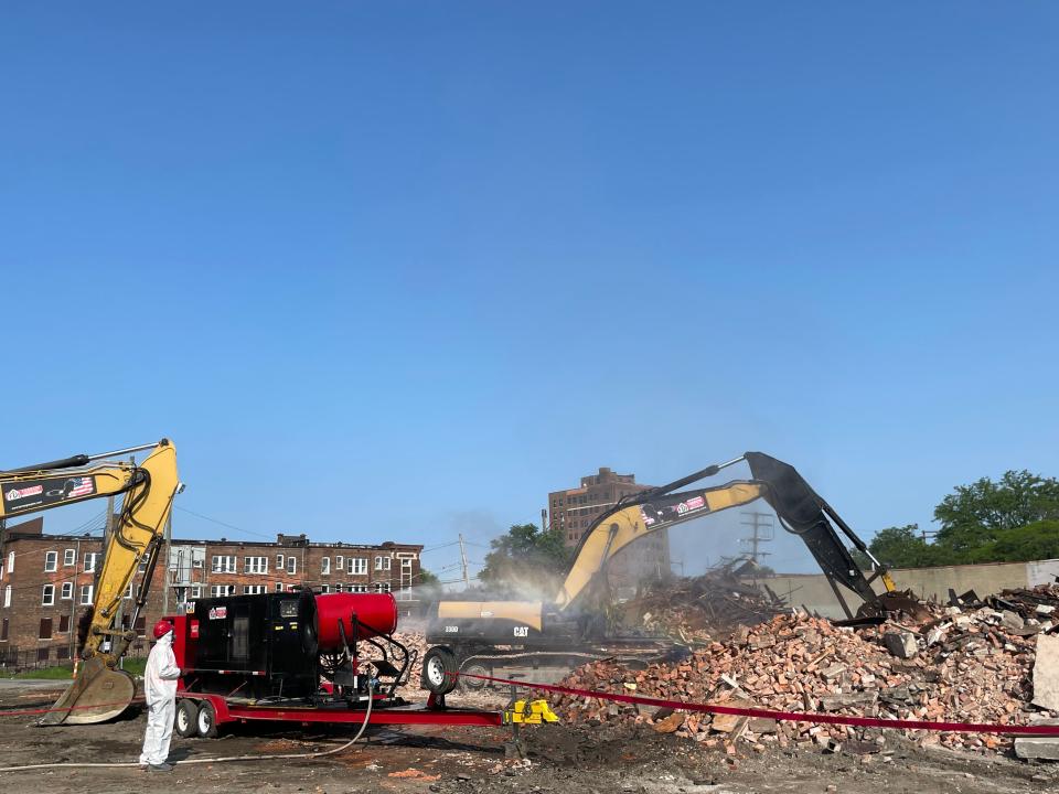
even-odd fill
[[[570,549],[556,528],[542,532],[536,524],[516,524],[493,538],[479,578],[493,590],[525,592],[556,590],[570,560]]]

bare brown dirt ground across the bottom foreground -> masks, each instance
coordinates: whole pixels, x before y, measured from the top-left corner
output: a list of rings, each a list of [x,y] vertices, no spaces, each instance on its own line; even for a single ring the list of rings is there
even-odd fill
[[[57,695],[54,684],[4,682],[0,709],[46,708]],[[450,696],[450,701],[480,706],[503,697]],[[130,715],[108,725],[38,728],[29,716],[0,716],[0,768],[38,763],[135,762],[145,717]],[[194,792],[432,792],[477,794],[485,791],[683,794],[699,792],[813,792],[844,794],[1016,794],[1059,788],[1059,764],[1015,759],[955,755],[887,741],[887,752],[869,757],[824,754],[813,750],[740,750],[735,758],[646,727],[609,728],[565,725],[523,729],[527,761],[505,760],[509,729],[408,728],[370,730],[366,739],[322,759],[276,760],[277,753],[312,752],[338,747],[354,729],[253,730],[237,728],[216,740],[173,739],[171,759],[257,755],[259,761],[178,763],[168,774],[139,768],[58,768],[0,771],[0,785],[35,794],[167,788]],[[834,786],[834,787],[832,787]]]

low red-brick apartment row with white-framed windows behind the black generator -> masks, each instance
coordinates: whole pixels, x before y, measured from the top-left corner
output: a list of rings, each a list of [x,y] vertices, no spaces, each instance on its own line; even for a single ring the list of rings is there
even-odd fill
[[[99,530],[45,535],[44,519],[9,526],[0,537],[0,662],[20,655],[33,661],[65,661],[76,651],[77,622],[95,600],[95,577],[103,562]],[[309,587],[318,592],[393,592],[400,611],[417,604],[422,546],[313,543],[306,535],[256,540],[172,540],[169,564],[159,558],[147,605],[136,621],[143,637],[167,612],[200,598],[280,592]],[[129,626],[133,596],[142,587],[146,564],[126,592],[121,624]],[[146,643],[133,644],[133,654]]]

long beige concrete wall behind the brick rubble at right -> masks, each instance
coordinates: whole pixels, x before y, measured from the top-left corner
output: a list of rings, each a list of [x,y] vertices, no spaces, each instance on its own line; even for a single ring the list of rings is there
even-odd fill
[[[1059,577],[1059,560],[897,568],[891,570],[890,575],[899,590],[911,590],[921,599],[945,602],[949,600],[950,588],[958,594],[974,590],[984,598],[1001,590],[1053,582],[1056,577]],[[780,575],[762,579],[761,582],[787,599],[792,607],[804,605],[827,618],[845,616],[823,573]],[[876,582],[876,590],[882,591],[879,582]],[[846,596],[845,592],[843,594]],[[854,611],[859,605],[859,600],[852,593],[848,594],[847,602]]]

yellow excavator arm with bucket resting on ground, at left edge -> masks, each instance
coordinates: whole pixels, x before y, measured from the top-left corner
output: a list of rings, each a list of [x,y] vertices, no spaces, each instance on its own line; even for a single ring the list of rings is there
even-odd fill
[[[150,452],[142,463],[117,460],[146,450]],[[77,676],[41,725],[103,722],[117,717],[131,702],[136,683],[118,669],[118,659],[136,639],[136,619],[147,602],[173,497],[182,490],[176,448],[168,439],[0,472],[2,518],[101,496],[125,496],[120,517],[104,547]],[[141,561],[146,570],[129,621],[132,629],[122,630],[115,625],[115,618]]]

